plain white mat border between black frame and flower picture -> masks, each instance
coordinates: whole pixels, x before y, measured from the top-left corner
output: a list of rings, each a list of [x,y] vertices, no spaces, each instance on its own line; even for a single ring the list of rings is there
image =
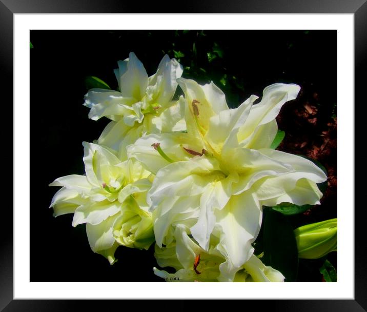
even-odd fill
[[[216,29],[220,20],[221,29],[338,30],[338,164],[343,164],[338,167],[338,187],[343,192],[338,193],[342,233],[338,249],[342,252],[338,253],[337,283],[29,282],[29,161],[25,161],[27,156],[29,160],[29,30],[80,29],[80,25],[94,29],[95,17],[14,14],[14,299],[354,299],[354,14],[98,14],[98,29],[152,29],[152,25],[155,29]]]

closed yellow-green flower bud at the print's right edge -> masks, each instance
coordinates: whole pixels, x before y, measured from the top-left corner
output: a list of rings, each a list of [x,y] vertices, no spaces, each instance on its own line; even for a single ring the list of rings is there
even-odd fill
[[[303,225],[294,230],[298,257],[317,259],[337,250],[337,219]]]

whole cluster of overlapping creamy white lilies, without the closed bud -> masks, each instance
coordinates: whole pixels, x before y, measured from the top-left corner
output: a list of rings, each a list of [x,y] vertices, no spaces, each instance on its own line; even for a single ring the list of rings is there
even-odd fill
[[[91,89],[89,118],[111,122],[83,142],[85,175],[58,178],[54,216],[86,223],[91,249],[112,264],[118,246],[155,243],[159,277],[282,282],[254,255],[262,206],[315,205],[327,177],[311,161],[271,149],[275,117],[300,87],[273,84],[235,109],[213,83],[181,78],[165,55],[148,76],[134,53],[118,62],[118,91]],[[184,91],[173,101],[177,85]]]

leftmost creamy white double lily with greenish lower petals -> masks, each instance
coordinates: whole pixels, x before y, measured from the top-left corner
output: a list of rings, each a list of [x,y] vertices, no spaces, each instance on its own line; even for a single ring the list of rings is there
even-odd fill
[[[145,248],[154,242],[147,191],[151,173],[134,161],[121,162],[116,152],[83,142],[86,175],[67,175],[50,186],[62,186],[50,207],[54,216],[74,213],[72,225],[86,223],[91,249],[115,262],[119,245]]]

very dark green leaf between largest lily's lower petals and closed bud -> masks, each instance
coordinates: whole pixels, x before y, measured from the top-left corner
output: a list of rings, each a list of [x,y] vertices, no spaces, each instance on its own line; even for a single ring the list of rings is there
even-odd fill
[[[298,270],[298,250],[293,227],[283,214],[264,209],[262,262],[281,272],[286,282],[294,282]]]

